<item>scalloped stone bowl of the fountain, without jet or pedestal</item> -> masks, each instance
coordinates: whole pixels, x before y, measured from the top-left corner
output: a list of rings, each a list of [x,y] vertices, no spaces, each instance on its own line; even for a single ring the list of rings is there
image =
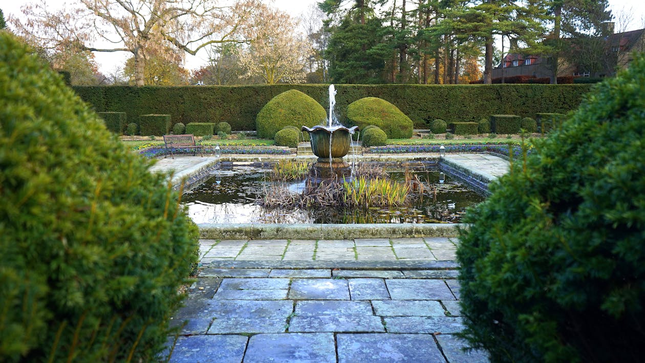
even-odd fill
[[[358,126],[303,126],[301,130],[309,133],[314,155],[320,159],[338,159],[350,152],[352,133],[358,130]]]

